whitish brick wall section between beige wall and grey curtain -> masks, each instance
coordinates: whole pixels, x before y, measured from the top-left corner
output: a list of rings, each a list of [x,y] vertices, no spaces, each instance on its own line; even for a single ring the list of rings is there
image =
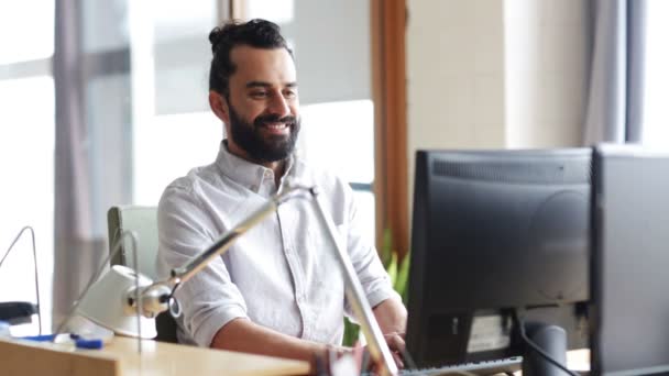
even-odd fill
[[[577,146],[588,99],[589,1],[506,0],[507,147]]]

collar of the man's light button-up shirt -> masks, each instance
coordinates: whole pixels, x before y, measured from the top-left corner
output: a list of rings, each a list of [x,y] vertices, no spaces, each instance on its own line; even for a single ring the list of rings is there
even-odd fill
[[[284,172],[284,177],[289,176],[294,172],[294,164],[295,156],[290,154],[290,156],[286,161],[286,169]],[[263,181],[265,181],[266,179],[272,180],[272,183],[274,181],[274,172],[272,169],[249,162],[230,153],[230,151],[228,150],[227,140],[223,140],[221,142],[218,156],[216,157],[216,165],[219,167],[223,175],[254,192],[259,192],[260,188],[263,185]],[[281,181],[283,184],[284,178],[282,178]]]

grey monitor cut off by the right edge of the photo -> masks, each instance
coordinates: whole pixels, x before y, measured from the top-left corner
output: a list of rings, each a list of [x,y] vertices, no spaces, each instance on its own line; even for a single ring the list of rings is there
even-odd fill
[[[669,373],[669,153],[596,147],[591,367]]]

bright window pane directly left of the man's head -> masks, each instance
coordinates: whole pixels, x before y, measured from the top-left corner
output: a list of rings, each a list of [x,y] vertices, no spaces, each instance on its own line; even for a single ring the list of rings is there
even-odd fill
[[[132,73],[132,201],[157,204],[165,187],[213,162],[221,122],[209,110],[211,46],[217,1],[163,1],[131,27],[138,63]],[[132,4],[132,7],[142,7]]]

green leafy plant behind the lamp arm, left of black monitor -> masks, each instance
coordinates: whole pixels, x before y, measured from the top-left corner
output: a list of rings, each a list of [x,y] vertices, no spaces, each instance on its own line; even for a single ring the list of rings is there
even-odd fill
[[[383,242],[381,244],[380,257],[385,270],[391,277],[393,288],[402,297],[402,301],[406,305],[408,298],[408,275],[409,275],[409,254],[407,253],[402,262],[397,261],[397,252],[393,247],[393,234],[390,229],[383,231]],[[343,321],[343,341],[344,346],[352,346],[360,336],[360,327],[349,319]]]

